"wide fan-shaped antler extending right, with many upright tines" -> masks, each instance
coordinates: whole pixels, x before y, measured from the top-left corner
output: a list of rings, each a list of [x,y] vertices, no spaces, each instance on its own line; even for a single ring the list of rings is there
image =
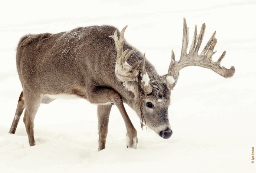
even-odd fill
[[[205,26],[205,24],[203,24],[202,27],[201,27],[200,34],[197,35],[197,26],[195,26],[194,37],[193,37],[193,40],[192,40],[190,51],[187,54],[188,28],[187,28],[186,19],[184,18],[183,41],[182,41],[180,61],[178,61],[178,62],[175,61],[174,52],[172,50],[171,63],[170,63],[169,70],[168,70],[167,78],[169,76],[173,77],[173,78],[171,78],[171,80],[169,80],[169,83],[172,85],[172,87],[174,87],[174,85],[177,82],[179,71],[182,68],[190,66],[190,65],[195,65],[195,66],[200,66],[200,67],[211,69],[211,70],[213,70],[214,72],[216,72],[217,74],[221,75],[224,78],[230,78],[234,75],[235,68],[233,66],[230,69],[227,69],[225,67],[220,66],[220,62],[224,58],[224,56],[226,54],[226,51],[224,51],[222,53],[219,60],[217,60],[216,62],[211,60],[211,57],[216,52],[216,51],[215,52],[213,51],[213,49],[214,49],[214,47],[217,43],[217,39],[214,38],[215,34],[216,34],[216,31],[211,36],[210,40],[208,41],[208,43],[204,47],[201,54],[198,55],[198,50],[201,46],[201,43],[202,43],[202,40],[203,40],[203,37],[204,37],[205,28],[206,28],[206,26]]]

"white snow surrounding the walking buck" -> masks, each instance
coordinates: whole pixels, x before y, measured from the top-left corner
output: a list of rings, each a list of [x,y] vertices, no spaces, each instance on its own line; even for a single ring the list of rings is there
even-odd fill
[[[1,2],[0,172],[255,173],[255,9],[255,0]],[[206,23],[203,44],[217,30],[213,60],[226,50],[221,65],[233,65],[236,73],[225,79],[200,67],[183,69],[171,95],[170,139],[142,131],[140,119],[125,105],[138,131],[138,148],[127,149],[125,125],[113,106],[106,149],[98,152],[96,105],[83,99],[42,104],[35,119],[36,146],[29,147],[22,119],[16,134],[8,134],[22,91],[15,55],[24,34],[128,25],[128,42],[165,74],[171,49],[180,54],[183,17],[190,40],[194,24]]]

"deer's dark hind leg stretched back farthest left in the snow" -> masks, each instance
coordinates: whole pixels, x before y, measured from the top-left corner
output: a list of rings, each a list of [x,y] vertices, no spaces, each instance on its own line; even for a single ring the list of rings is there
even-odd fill
[[[22,115],[22,112],[23,112],[24,108],[25,108],[25,102],[24,102],[24,96],[23,96],[23,91],[22,91],[21,94],[20,94],[20,98],[19,98],[17,108],[16,108],[16,112],[15,112],[15,116],[13,118],[13,123],[12,123],[12,126],[11,126],[10,130],[9,130],[9,133],[12,133],[12,134],[15,133],[17,125],[18,125],[19,120],[20,120],[20,116]]]

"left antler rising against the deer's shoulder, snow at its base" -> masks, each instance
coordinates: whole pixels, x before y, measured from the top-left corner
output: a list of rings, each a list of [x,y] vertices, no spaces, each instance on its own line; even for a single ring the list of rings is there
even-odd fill
[[[115,41],[116,47],[116,64],[115,64],[115,75],[116,77],[123,82],[134,81],[135,78],[138,76],[139,71],[137,68],[141,64],[141,60],[136,62],[133,66],[127,63],[127,59],[129,56],[135,51],[135,49],[129,51],[128,49],[123,52],[123,45],[124,45],[124,32],[127,26],[125,26],[119,36],[117,36],[117,30],[115,31],[114,35],[110,35],[109,37],[113,38]],[[128,53],[127,53],[128,52]],[[141,79],[141,88],[144,91],[144,94],[150,94],[152,92],[152,86],[149,85],[149,77],[146,72],[145,68],[145,54],[142,58],[142,79]]]

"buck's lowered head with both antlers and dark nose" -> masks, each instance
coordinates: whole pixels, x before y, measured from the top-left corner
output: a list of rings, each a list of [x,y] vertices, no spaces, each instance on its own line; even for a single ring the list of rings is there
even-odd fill
[[[211,60],[212,55],[215,53],[213,49],[217,43],[216,38],[214,38],[216,32],[213,33],[203,51],[198,54],[203,40],[205,24],[201,27],[199,35],[197,35],[197,27],[195,27],[193,41],[190,51],[187,54],[188,28],[186,19],[184,18],[183,44],[180,61],[175,61],[174,51],[172,50],[168,73],[163,76],[148,74],[145,68],[145,54],[142,60],[135,63],[133,66],[127,63],[127,59],[134,53],[135,49],[123,51],[125,41],[124,32],[126,28],[127,26],[121,31],[119,39],[117,31],[115,31],[114,35],[109,36],[114,38],[117,51],[115,66],[116,78],[124,82],[125,87],[134,93],[134,101],[136,104],[134,104],[135,106],[130,106],[133,107],[135,111],[137,110],[137,114],[141,116],[141,127],[143,127],[143,123],[146,123],[149,128],[154,130],[162,138],[170,138],[173,133],[168,120],[170,92],[177,83],[180,70],[189,65],[195,65],[211,69],[217,74],[229,78],[234,75],[235,69],[233,66],[230,69],[220,66],[220,62],[224,58],[226,51],[223,52],[217,62]],[[138,67],[141,67],[141,71],[138,70]],[[139,105],[140,109],[138,109]]]

